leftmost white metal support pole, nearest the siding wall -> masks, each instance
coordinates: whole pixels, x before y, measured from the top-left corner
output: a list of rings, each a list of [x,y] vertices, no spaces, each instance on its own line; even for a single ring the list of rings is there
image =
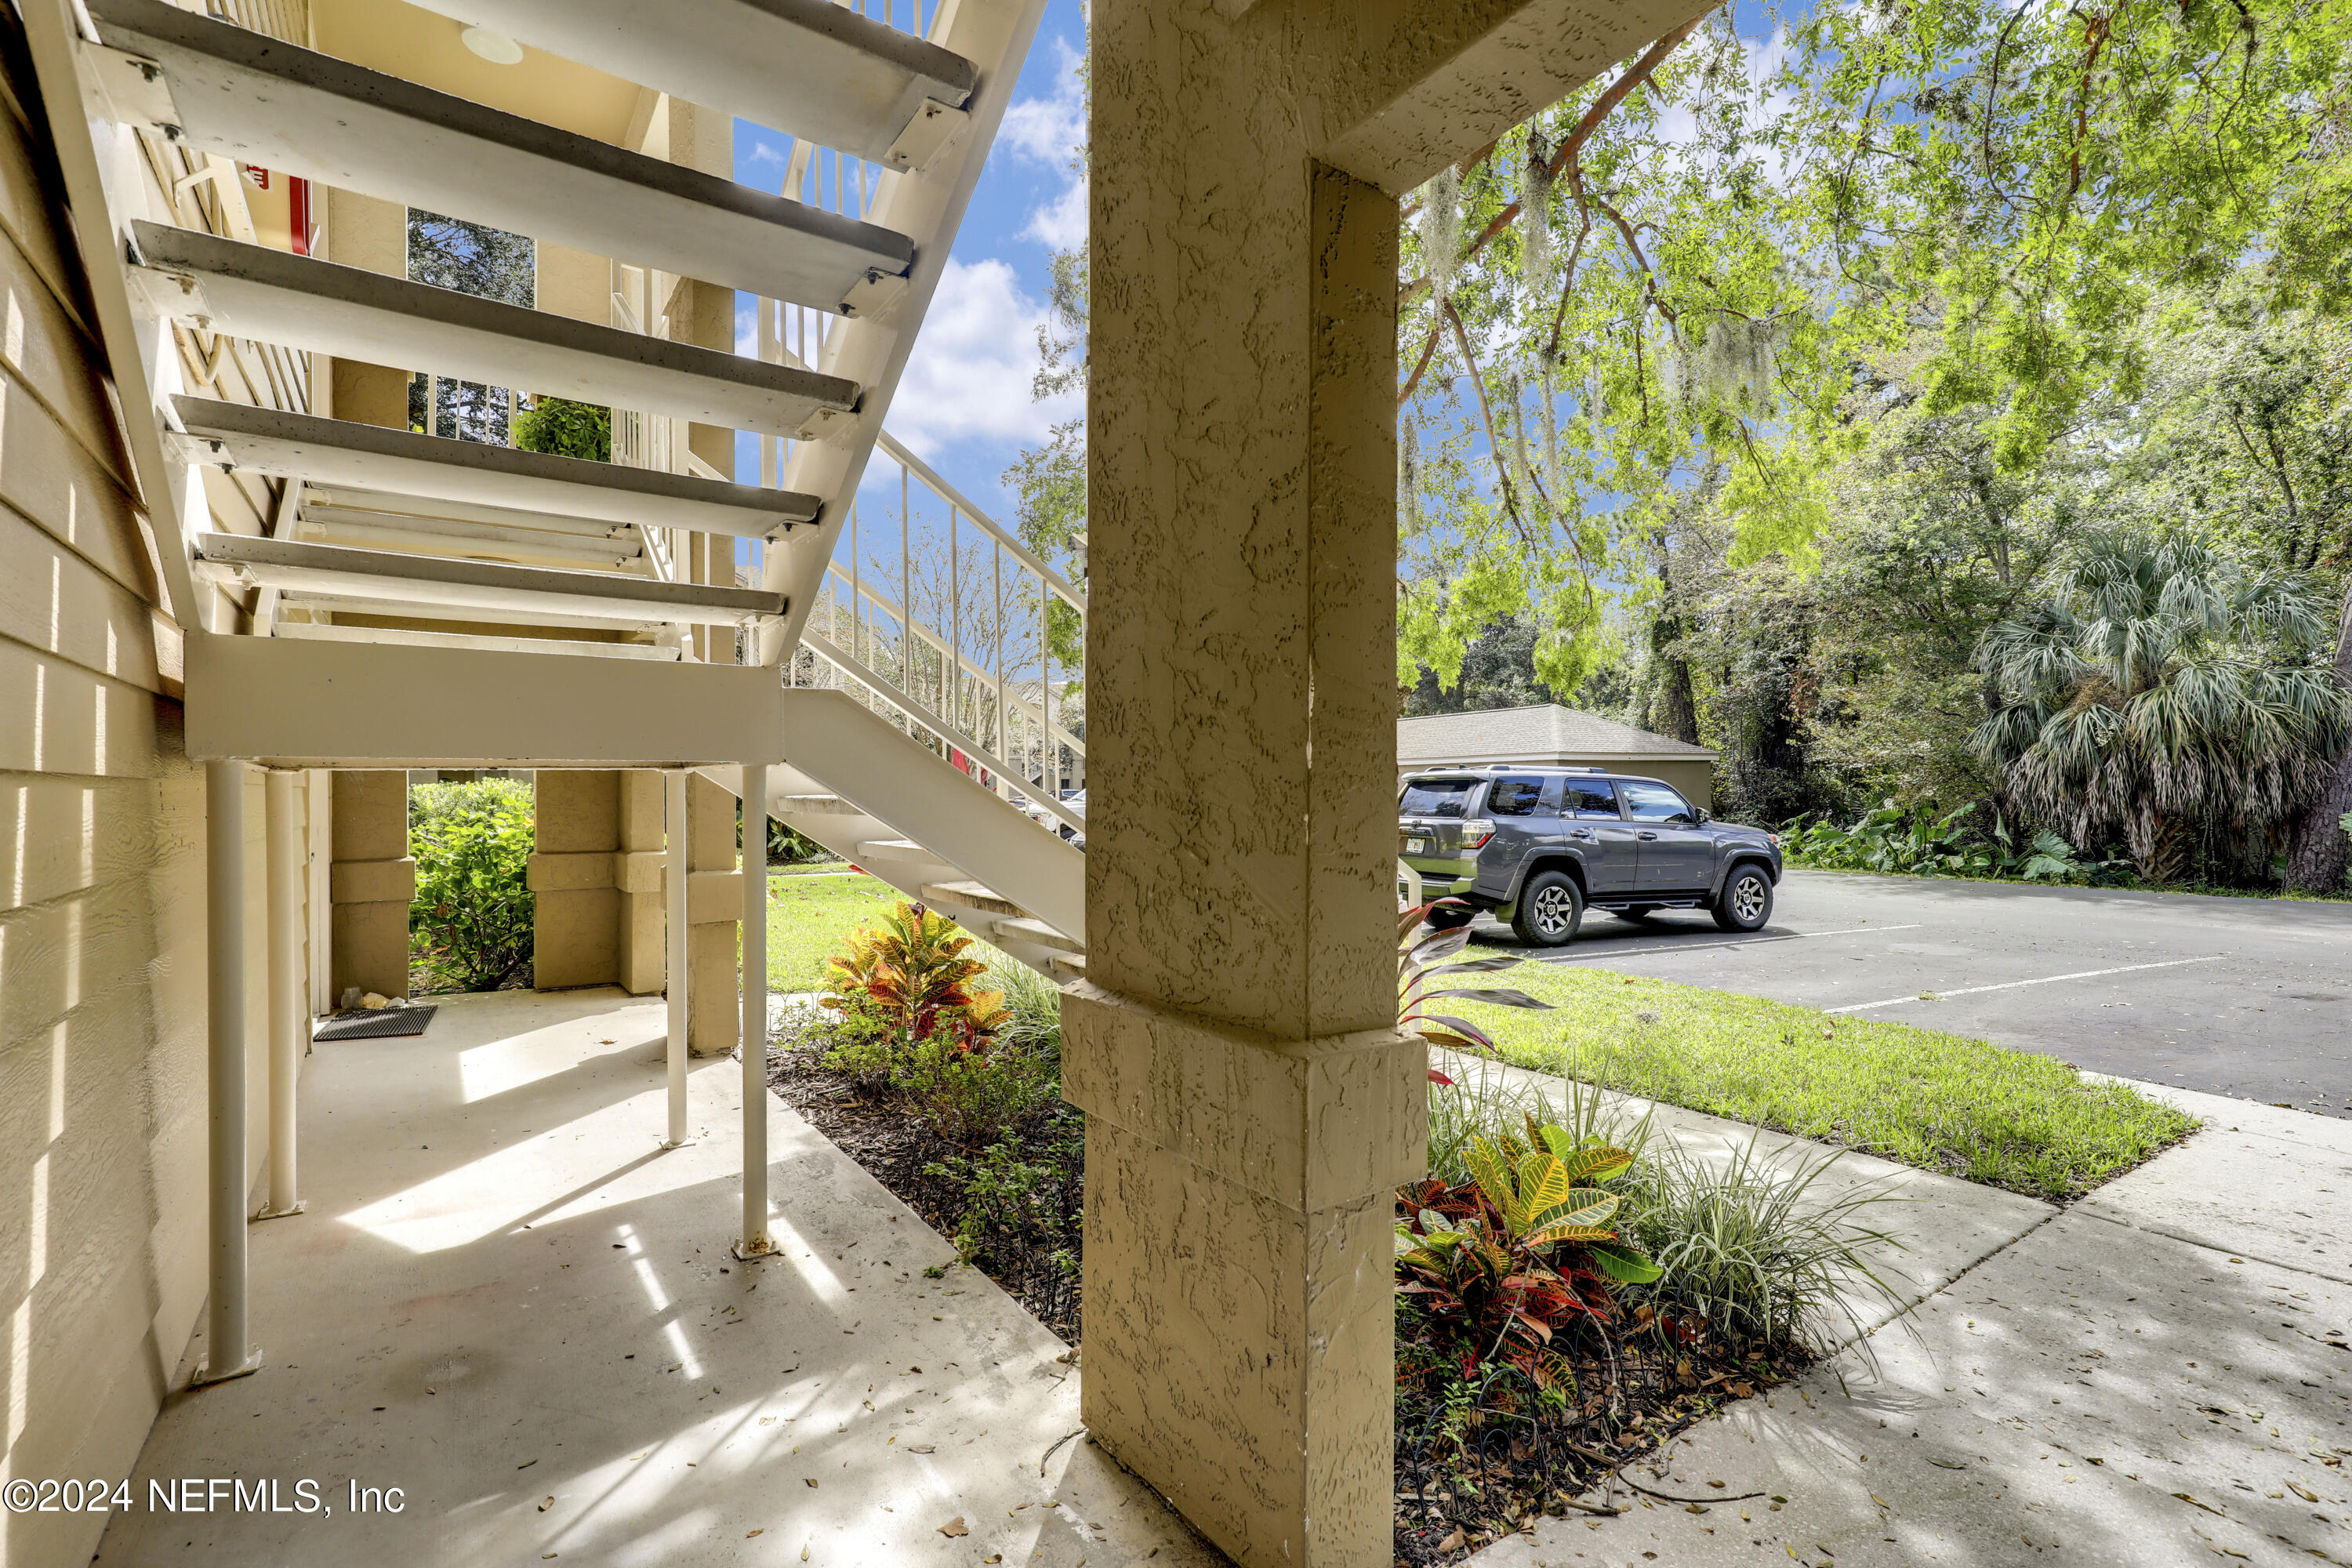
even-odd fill
[[[205,764],[205,1091],[212,1321],[193,1382],[261,1366],[245,1321],[245,764]]]

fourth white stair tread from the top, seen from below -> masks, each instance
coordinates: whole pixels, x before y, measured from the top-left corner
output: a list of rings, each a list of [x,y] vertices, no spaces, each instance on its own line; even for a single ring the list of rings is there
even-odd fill
[[[816,517],[816,496],[623,468],[485,442],[452,442],[348,418],[174,397],[183,456],[254,473],[353,484],[423,501],[501,505],[604,524],[774,538]]]

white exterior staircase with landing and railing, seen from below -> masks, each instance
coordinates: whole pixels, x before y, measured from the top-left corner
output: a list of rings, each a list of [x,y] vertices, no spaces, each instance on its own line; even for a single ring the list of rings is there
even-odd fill
[[[421,5],[786,132],[783,190],[322,54],[301,0],[26,0],[191,755],[731,790],[760,764],[795,830],[1080,973],[1084,741],[1049,628],[1082,592],[882,430],[1044,0]],[[609,315],[313,256],[301,205],[263,242],[254,169],[609,259]],[[748,296],[757,353],[684,341],[689,280]],[[426,376],[428,430],[329,416],[308,355]],[[609,407],[614,461],[440,435],[452,381]],[[753,433],[760,482],[691,425]],[[858,527],[877,451],[896,550]]]

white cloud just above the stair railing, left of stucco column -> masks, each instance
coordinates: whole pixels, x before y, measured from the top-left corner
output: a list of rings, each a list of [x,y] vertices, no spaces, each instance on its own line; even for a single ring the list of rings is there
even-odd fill
[[[931,458],[955,442],[1033,447],[1084,409],[1068,393],[1035,402],[1044,303],[1023,294],[1007,261],[948,261],[915,353],[891,400],[889,433]]]

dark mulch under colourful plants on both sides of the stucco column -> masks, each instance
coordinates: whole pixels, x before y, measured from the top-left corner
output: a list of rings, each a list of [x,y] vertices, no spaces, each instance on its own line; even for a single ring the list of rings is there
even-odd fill
[[[786,1023],[769,1046],[769,1084],[931,1229],[955,1237],[964,1222],[964,1190],[924,1173],[955,1150],[903,1105],[863,1098],[849,1074],[823,1065],[823,1051],[821,1034]],[[995,1248],[974,1262],[1061,1340],[1077,1342],[1080,1291],[1063,1260]],[[1639,1507],[1644,1495],[1675,1507],[1740,1502],[1722,1493],[1684,1495],[1708,1488],[1665,1483],[1663,1472],[1639,1462],[1729,1399],[1785,1380],[1802,1359],[1766,1363],[1708,1345],[1672,1349],[1651,1328],[1658,1312],[1672,1312],[1670,1300],[1651,1305],[1649,1291],[1635,1288],[1625,1305],[1625,1321],[1613,1331],[1585,1331],[1571,1352],[1581,1394],[1541,1420],[1524,1415],[1536,1406],[1536,1389],[1510,1368],[1494,1368],[1475,1392],[1468,1420],[1461,1408],[1399,1401],[1399,1568],[1456,1563],[1503,1535],[1534,1528],[1543,1514],[1616,1514]]]

